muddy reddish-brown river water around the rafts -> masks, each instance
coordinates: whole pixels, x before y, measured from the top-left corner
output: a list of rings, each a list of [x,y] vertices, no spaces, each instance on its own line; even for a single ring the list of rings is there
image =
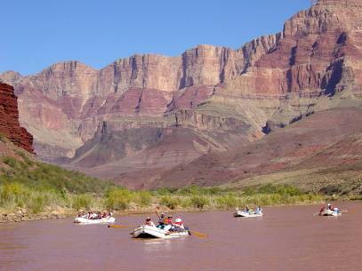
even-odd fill
[[[0,270],[362,270],[362,203],[339,206],[348,212],[338,218],[313,217],[319,206],[264,208],[262,219],[235,219],[232,211],[178,214],[205,239],[136,240],[131,228],[72,219],[0,224]],[[144,217],[117,220],[136,226]]]

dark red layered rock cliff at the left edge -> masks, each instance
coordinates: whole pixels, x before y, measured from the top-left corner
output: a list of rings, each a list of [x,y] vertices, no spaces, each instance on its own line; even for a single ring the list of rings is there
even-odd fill
[[[12,86],[0,83],[0,132],[15,145],[33,153],[33,136],[19,124],[17,100]]]

